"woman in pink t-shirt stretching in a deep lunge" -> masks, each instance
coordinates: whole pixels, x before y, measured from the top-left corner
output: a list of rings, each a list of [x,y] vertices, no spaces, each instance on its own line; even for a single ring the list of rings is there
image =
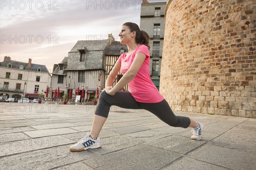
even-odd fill
[[[119,33],[120,41],[126,44],[128,52],[120,55],[113,66],[105,84],[105,91],[99,96],[90,133],[70,147],[70,151],[96,149],[102,146],[99,133],[108,118],[112,105],[126,109],[145,109],[156,115],[172,127],[192,127],[192,140],[200,140],[203,124],[190,118],[176,116],[167,101],[151,81],[149,73],[149,36],[140,31],[136,23],[124,23]],[[122,78],[112,87],[117,73],[121,70]],[[129,86],[129,92],[119,91]]]

